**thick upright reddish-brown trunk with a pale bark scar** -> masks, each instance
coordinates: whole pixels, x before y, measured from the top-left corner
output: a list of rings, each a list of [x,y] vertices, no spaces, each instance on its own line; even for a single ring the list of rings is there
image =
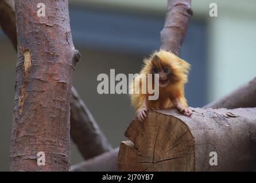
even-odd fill
[[[11,134],[10,170],[70,169],[69,98],[77,51],[69,25],[68,0],[15,1],[18,59]],[[45,166],[37,153],[45,153]]]

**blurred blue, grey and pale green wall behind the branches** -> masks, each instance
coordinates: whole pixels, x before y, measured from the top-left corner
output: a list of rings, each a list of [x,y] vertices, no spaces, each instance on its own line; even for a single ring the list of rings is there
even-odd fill
[[[82,55],[73,85],[111,144],[119,146],[134,110],[125,94],[99,95],[96,77],[110,69],[138,73],[142,59],[160,45],[166,1],[69,2],[73,41]],[[208,15],[212,2],[218,17]],[[255,77],[256,1],[193,0],[192,9],[180,57],[192,65],[185,89],[189,105],[200,107]],[[1,30],[0,59],[0,170],[9,170],[16,53]],[[73,144],[71,156],[72,164],[82,161]]]

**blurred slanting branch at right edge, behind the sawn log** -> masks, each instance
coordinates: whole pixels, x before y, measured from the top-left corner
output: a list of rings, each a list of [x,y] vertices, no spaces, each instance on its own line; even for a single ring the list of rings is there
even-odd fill
[[[205,106],[205,108],[255,108],[256,78],[239,87],[227,96]]]

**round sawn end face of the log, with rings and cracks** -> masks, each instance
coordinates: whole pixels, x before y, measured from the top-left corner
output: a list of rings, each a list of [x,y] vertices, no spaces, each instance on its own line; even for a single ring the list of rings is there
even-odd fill
[[[121,143],[120,170],[193,171],[193,136],[178,118],[149,112],[145,121],[133,120],[125,136],[132,142]]]

